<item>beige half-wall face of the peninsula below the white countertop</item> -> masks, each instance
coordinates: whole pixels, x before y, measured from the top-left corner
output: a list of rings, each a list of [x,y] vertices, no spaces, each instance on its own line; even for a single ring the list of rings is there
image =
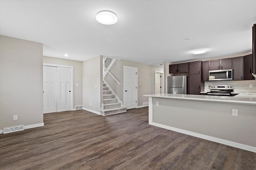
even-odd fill
[[[164,98],[152,102],[154,123],[256,147],[255,105]],[[232,116],[232,109],[238,109],[238,116]]]

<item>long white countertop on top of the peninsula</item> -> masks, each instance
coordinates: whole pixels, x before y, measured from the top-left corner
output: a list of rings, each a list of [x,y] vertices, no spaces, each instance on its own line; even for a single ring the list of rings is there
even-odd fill
[[[226,102],[237,104],[256,105],[256,94],[238,94],[236,96],[208,96],[208,95],[193,95],[193,94],[145,94],[143,96],[153,98],[170,98],[178,100],[196,100],[202,102]]]

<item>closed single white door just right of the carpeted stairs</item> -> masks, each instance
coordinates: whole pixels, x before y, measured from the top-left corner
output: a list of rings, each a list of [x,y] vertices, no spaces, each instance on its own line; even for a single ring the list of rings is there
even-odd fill
[[[137,73],[138,68],[124,66],[124,105],[127,109],[138,106]]]

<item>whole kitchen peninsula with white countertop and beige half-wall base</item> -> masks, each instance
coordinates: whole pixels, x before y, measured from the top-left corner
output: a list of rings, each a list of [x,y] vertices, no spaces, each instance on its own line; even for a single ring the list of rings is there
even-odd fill
[[[256,152],[256,94],[144,96],[149,97],[150,125]]]

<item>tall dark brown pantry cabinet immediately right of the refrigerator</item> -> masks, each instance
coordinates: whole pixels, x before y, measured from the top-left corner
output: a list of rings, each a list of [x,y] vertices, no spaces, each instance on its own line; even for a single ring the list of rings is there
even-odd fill
[[[202,61],[189,63],[188,94],[200,94],[202,80]]]

